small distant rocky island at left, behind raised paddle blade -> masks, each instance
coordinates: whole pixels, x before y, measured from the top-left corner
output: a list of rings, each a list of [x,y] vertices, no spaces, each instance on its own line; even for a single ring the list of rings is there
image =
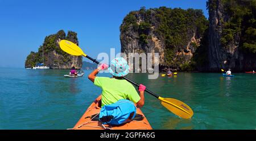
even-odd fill
[[[59,40],[62,39],[69,40],[78,45],[77,34],[75,32],[68,31],[68,35],[66,36],[65,32],[60,30],[57,34],[46,36],[38,52],[31,52],[30,55],[27,56],[25,67],[33,67],[36,63],[44,62],[44,65],[51,69],[70,69],[72,66],[81,69],[82,57],[72,56],[62,51],[58,44]]]

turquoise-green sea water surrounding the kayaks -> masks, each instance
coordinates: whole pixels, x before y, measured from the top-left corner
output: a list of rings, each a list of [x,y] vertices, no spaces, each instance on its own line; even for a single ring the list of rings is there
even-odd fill
[[[90,71],[84,72],[83,77],[65,78],[68,70],[0,68],[0,129],[72,128],[101,93],[88,80]],[[256,74],[234,75],[178,73],[148,80],[146,73],[131,73],[128,77],[193,109],[192,119],[181,119],[145,94],[142,111],[154,129],[255,129]]]

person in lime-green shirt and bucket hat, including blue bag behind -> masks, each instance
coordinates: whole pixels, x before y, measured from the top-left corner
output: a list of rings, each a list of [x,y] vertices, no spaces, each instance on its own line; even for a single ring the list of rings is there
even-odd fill
[[[109,77],[96,76],[101,70],[108,69],[113,75]],[[102,89],[100,121],[103,124],[120,125],[130,122],[136,114],[136,106],[144,105],[144,90],[146,86],[139,85],[139,94],[130,82],[123,79],[129,73],[129,65],[122,57],[111,61],[110,67],[101,64],[89,74],[88,78],[94,85]],[[129,100],[128,100],[129,99]]]

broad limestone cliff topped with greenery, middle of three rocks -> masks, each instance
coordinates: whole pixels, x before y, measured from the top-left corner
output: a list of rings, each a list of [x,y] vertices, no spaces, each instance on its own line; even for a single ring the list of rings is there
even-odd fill
[[[201,10],[142,7],[123,19],[121,52],[159,53],[160,69],[186,70],[207,27]]]

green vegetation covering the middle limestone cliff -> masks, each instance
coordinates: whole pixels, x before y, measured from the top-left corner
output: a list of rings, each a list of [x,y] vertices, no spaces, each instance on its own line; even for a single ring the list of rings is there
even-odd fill
[[[152,39],[152,35],[163,40],[164,65],[185,67],[182,60],[175,60],[176,52],[183,51],[190,42],[193,34],[199,39],[208,28],[208,20],[203,15],[202,10],[180,8],[159,7],[158,9],[148,9],[142,7],[138,11],[131,11],[123,19],[120,31],[123,34],[138,34],[139,45],[145,47]],[[197,48],[195,43],[192,47]],[[189,61],[187,62],[189,65]],[[187,66],[188,66],[187,65]]]

